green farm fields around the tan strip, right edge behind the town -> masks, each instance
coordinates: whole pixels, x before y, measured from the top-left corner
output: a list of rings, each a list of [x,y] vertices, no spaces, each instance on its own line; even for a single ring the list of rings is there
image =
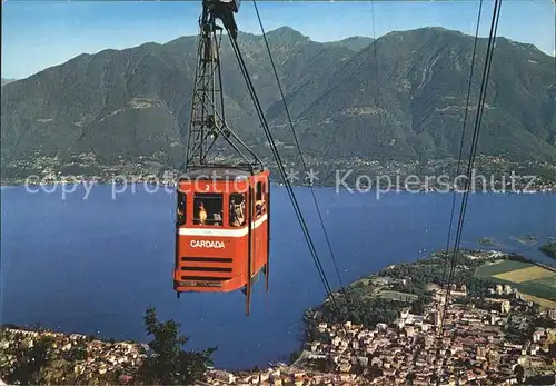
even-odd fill
[[[509,276],[507,277],[507,279],[495,277],[496,275],[510,274],[512,271],[532,267],[536,266],[523,261],[502,260],[499,263],[489,265],[487,264],[478,267],[476,270],[476,275],[495,283],[510,285],[512,287],[517,288],[517,290],[522,294],[533,295],[549,300],[556,300],[556,273],[552,273],[553,275],[550,275],[550,273],[547,271],[547,277],[532,278],[530,280],[525,281],[519,280],[520,283],[510,281],[512,275],[507,275]]]

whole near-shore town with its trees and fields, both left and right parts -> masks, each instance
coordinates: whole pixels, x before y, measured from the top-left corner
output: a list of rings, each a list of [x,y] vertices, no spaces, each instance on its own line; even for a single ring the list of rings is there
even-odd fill
[[[448,285],[439,283],[448,256],[385,267],[308,309],[307,340],[291,363],[208,368],[198,384],[553,385],[556,269],[515,254],[463,250]],[[546,293],[532,295],[532,283]],[[339,320],[337,301],[359,305]],[[135,342],[4,326],[0,377],[17,380],[30,368],[22,363],[29,352],[46,344],[48,359],[33,379],[50,384],[145,384],[137,370],[156,355]]]

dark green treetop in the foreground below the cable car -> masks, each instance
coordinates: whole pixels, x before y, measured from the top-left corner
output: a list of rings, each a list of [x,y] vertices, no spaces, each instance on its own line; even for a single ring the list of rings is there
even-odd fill
[[[145,315],[145,326],[153,339],[149,343],[150,355],[139,369],[147,384],[191,385],[203,380],[205,372],[212,365],[216,347],[202,352],[183,350],[189,337],[179,334],[180,324],[173,320],[159,321],[155,308]]]

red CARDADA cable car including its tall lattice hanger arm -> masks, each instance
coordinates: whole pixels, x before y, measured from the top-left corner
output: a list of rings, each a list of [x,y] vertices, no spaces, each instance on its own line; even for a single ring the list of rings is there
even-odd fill
[[[199,21],[186,172],[177,182],[173,289],[178,297],[186,291],[241,289],[247,297],[249,315],[251,286],[260,273],[265,274],[268,291],[269,171],[224,119],[220,39],[217,37],[221,27],[216,24],[216,19],[221,19],[230,30],[230,26],[235,27],[232,12],[237,12],[237,7],[230,7],[230,1],[218,2],[205,0]],[[235,33],[230,36],[236,38]],[[208,162],[211,150],[220,158],[225,157],[222,151],[229,150],[216,146],[219,139],[236,151],[240,164]]]

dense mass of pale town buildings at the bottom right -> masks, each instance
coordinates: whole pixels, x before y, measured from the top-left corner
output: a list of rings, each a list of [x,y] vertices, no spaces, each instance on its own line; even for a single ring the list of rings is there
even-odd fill
[[[424,315],[403,310],[374,329],[320,323],[318,338],[291,366],[210,370],[206,385],[512,385],[524,376],[555,374],[556,329],[530,334],[532,304],[509,286],[492,293],[476,305],[465,301],[465,286],[450,288],[446,306],[446,294],[436,288]],[[556,309],[546,315],[556,317]]]

